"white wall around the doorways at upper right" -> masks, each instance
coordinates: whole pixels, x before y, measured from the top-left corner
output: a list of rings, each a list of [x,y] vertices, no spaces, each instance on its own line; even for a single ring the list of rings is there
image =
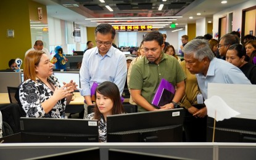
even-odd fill
[[[251,1],[247,1],[244,2],[242,4],[237,4],[234,7],[231,7],[229,9],[226,10],[222,10],[221,12],[218,12],[217,14],[213,15],[213,36],[215,33],[218,32],[218,19],[220,17],[223,17],[223,15],[227,16],[227,22],[229,20],[228,14],[233,12],[233,26],[232,26],[232,30],[233,31],[237,31],[238,28],[240,28],[241,31],[241,27],[242,27],[242,10],[243,9],[247,9],[249,7],[252,6],[256,6],[256,1],[255,0],[251,0]],[[229,24],[227,24],[226,26],[226,32],[228,33],[228,27]],[[216,38],[217,39],[217,38]]]

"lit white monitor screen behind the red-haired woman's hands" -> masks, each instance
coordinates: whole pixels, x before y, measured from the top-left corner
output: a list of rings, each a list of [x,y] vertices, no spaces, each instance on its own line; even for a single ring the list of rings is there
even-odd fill
[[[79,71],[76,72],[54,72],[54,76],[59,80],[60,86],[63,86],[63,82],[76,82],[78,87],[80,88],[80,74]]]

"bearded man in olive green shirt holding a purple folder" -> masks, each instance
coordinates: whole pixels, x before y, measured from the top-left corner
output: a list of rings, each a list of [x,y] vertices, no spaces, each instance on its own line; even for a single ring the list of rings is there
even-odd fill
[[[184,95],[184,74],[175,57],[162,52],[163,35],[159,31],[151,31],[143,38],[145,56],[134,63],[130,75],[130,91],[138,111],[156,111],[176,108]],[[164,78],[176,87],[173,102],[161,106],[160,109],[151,104],[152,98]]]

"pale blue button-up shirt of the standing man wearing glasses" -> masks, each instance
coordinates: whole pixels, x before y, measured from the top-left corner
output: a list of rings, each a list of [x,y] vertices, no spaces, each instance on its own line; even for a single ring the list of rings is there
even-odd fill
[[[126,75],[126,58],[120,50],[112,46],[104,56],[99,54],[97,47],[86,50],[80,68],[80,94],[91,95],[90,89],[93,82],[101,84],[104,81],[110,81],[117,84],[122,95]]]

